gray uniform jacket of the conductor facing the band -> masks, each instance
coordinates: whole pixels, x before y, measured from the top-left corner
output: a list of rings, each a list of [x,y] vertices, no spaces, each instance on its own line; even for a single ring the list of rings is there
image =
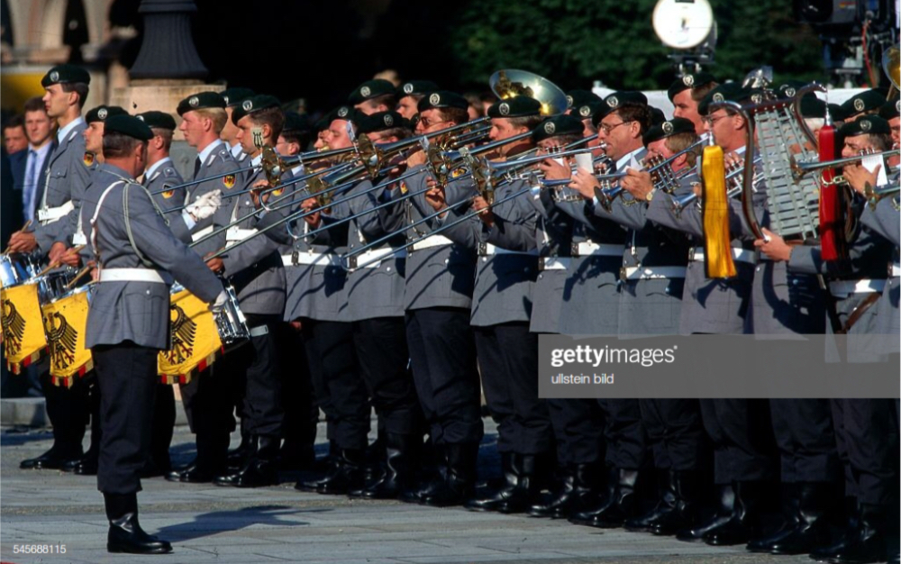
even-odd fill
[[[109,167],[107,172],[128,177],[119,168]],[[119,177],[109,178],[109,184],[103,186],[100,193],[114,182],[121,182]],[[96,204],[93,204],[80,211],[83,223],[90,222],[95,208]],[[115,186],[105,196],[95,228],[97,255],[102,268],[147,268],[141,260],[143,257],[150,261],[152,268],[160,271],[167,284],[99,282],[93,290],[87,314],[88,348],[132,341],[144,347],[167,349],[168,285],[173,277],[205,302],[214,301],[222,291],[219,279],[206,268],[203,259],[177,241],[150,195],[134,180]]]

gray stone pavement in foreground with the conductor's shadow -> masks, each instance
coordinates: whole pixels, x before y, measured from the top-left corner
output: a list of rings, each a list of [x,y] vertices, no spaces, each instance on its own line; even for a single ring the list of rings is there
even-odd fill
[[[483,453],[495,458],[495,430],[487,423],[490,434]],[[319,436],[324,436],[322,428]],[[248,490],[172,484],[162,478],[144,480],[139,494],[141,524],[172,541],[175,551],[153,557],[107,554],[103,500],[96,491],[96,479],[53,470],[20,470],[20,460],[50,447],[47,431],[5,428],[0,445],[0,559],[4,562],[812,562],[806,556],[760,556],[741,547],[714,548],[622,530],[602,532],[524,516],[303,494],[293,489],[293,480]],[[193,448],[187,428],[177,427],[175,461],[189,459]],[[317,449],[324,452],[326,445]],[[66,553],[14,553],[16,546],[33,544],[65,545]]]

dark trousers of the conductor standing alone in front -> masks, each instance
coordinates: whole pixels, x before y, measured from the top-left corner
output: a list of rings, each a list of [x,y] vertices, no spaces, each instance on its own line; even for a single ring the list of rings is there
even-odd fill
[[[103,436],[97,489],[105,494],[141,491],[141,468],[150,454],[159,350],[132,341],[92,349],[100,386]]]

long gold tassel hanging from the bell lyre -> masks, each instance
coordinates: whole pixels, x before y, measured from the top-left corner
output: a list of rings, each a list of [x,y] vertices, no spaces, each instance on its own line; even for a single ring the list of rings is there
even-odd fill
[[[726,198],[726,170],[723,148],[704,148],[704,259],[708,278],[728,278],[738,274],[729,241],[729,202]]]

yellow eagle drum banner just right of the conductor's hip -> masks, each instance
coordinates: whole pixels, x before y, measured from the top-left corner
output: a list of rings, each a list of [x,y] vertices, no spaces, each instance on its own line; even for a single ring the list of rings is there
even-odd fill
[[[159,353],[157,368],[164,384],[187,384],[222,353],[222,341],[209,307],[182,290],[169,304],[169,350]]]

